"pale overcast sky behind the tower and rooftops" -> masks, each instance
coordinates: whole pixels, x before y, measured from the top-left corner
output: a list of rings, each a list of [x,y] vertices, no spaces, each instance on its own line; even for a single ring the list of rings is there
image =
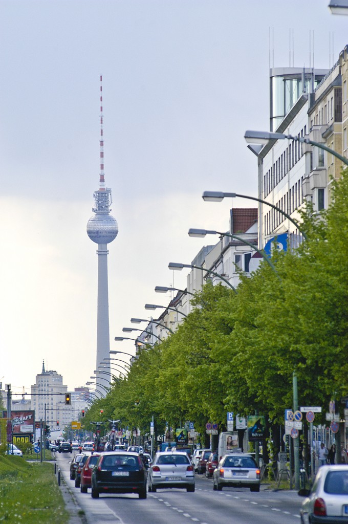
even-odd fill
[[[232,203],[202,192],[257,194],[243,136],[269,128],[269,28],[275,67],[288,67],[289,47],[292,65],[292,29],[293,64],[309,67],[314,29],[314,65],[328,69],[348,27],[328,3],[0,0],[3,384],[28,390],[42,359],[69,389],[95,369],[97,246],[86,223],[99,182],[99,75],[119,225],[111,349],[133,353],[113,339],[132,316],[148,318],[146,302],[168,303],[155,286],[186,287],[168,263],[191,263],[203,246],[188,229],[227,230]]]

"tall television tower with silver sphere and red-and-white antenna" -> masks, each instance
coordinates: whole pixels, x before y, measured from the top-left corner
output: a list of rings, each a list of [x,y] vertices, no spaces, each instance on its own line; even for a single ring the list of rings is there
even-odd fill
[[[110,332],[108,316],[108,283],[107,283],[107,244],[112,242],[118,233],[118,225],[110,214],[111,189],[105,187],[104,180],[104,136],[103,136],[103,86],[100,75],[100,177],[99,189],[94,191],[93,215],[87,223],[87,234],[90,239],[98,244],[98,301],[97,301],[97,332],[96,332],[96,367],[105,363],[104,358],[110,357]],[[110,373],[110,365],[104,367]],[[111,376],[102,375],[110,380]],[[97,386],[105,387],[105,380],[96,377]],[[99,388],[102,389],[102,388]]]

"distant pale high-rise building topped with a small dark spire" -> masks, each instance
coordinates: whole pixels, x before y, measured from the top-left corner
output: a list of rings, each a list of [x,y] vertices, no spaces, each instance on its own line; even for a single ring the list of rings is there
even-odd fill
[[[63,385],[63,377],[56,371],[45,370],[36,375],[35,384],[31,386],[31,409],[35,411],[35,420],[45,420],[51,429],[64,429],[75,420],[73,406],[65,405],[65,394],[68,387]]]

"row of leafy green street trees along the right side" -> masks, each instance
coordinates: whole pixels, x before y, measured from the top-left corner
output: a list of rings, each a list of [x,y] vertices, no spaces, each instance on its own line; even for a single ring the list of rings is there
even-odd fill
[[[166,423],[194,421],[224,427],[226,412],[266,415],[284,423],[292,406],[292,374],[300,404],[322,406],[348,392],[348,177],[334,185],[334,204],[320,215],[308,206],[302,229],[308,240],[277,252],[237,293],[206,283],[178,330],[141,350],[127,379],[113,381],[94,402],[90,420],[121,419],[123,427],[158,433]],[[338,402],[336,402],[339,405]],[[316,422],[319,422],[316,418]],[[203,443],[203,442],[202,442]]]

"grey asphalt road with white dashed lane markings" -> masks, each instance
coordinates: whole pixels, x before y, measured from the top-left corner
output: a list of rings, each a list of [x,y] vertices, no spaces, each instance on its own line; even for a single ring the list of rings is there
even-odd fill
[[[91,490],[83,494],[70,481],[69,461],[73,455],[58,454],[57,464],[64,481],[73,491],[89,524],[292,524],[299,523],[302,499],[295,492],[246,488],[224,488],[214,492],[212,479],[196,475],[195,492],[159,489],[146,500],[137,495],[102,495],[92,499]]]

